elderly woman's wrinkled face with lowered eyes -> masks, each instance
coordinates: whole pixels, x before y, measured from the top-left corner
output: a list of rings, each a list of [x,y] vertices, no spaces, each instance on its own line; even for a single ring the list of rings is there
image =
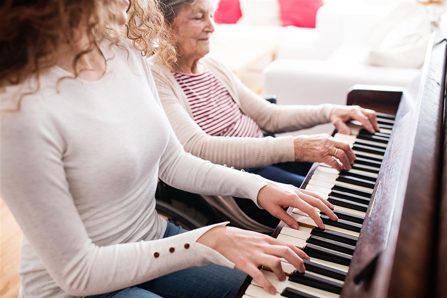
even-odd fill
[[[179,55],[202,58],[210,52],[210,38],[214,31],[211,1],[197,1],[186,5],[171,22]]]

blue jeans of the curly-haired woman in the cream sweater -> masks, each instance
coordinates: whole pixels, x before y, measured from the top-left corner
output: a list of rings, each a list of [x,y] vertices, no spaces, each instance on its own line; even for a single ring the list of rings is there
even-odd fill
[[[163,238],[186,232],[168,222]],[[209,264],[166,274],[115,292],[87,298],[233,298],[247,274],[238,269]]]

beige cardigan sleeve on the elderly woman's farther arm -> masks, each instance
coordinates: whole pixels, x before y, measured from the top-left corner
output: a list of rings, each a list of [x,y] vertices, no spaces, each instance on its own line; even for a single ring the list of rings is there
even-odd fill
[[[236,88],[234,90],[245,113],[261,127],[261,129],[282,133],[301,130],[329,122],[329,113],[336,105],[275,105],[263,99],[234,74],[231,69],[207,57]],[[311,99],[309,99],[311,100]]]

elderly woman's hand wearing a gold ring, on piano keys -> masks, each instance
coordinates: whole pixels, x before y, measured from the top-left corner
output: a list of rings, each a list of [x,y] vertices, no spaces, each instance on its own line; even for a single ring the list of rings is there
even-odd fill
[[[354,151],[349,144],[338,141],[329,134],[300,135],[295,138],[294,147],[295,161],[325,163],[338,171],[350,170],[355,160]]]

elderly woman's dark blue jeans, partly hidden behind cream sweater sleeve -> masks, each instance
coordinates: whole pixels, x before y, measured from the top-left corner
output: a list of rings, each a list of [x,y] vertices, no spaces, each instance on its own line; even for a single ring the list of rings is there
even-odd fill
[[[254,173],[272,181],[300,187],[312,167],[312,163],[287,162],[272,164],[271,166],[245,169],[246,172]],[[234,198],[237,206],[253,220],[267,226],[275,228],[279,219],[268,213],[266,210],[257,208],[251,200]]]

